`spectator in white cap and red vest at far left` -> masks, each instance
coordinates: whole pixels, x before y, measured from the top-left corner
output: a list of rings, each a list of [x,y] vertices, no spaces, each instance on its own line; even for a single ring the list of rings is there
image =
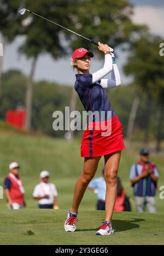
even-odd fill
[[[9,174],[4,180],[4,192],[7,197],[8,209],[18,210],[26,206],[24,186],[19,176],[20,166],[17,162],[9,165]]]

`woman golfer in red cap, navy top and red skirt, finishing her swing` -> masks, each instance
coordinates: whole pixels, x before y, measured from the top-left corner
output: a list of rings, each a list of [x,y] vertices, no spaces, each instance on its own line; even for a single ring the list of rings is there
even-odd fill
[[[93,57],[91,51],[78,48],[72,54],[72,66],[78,71],[74,87],[85,110],[90,112],[90,116],[89,124],[83,133],[81,142],[81,157],[84,157],[83,171],[75,184],[73,204],[68,211],[65,230],[67,232],[75,231],[80,202],[103,155],[104,178],[107,185],[106,217],[96,235],[110,235],[114,232],[112,215],[116,200],[117,174],[121,150],[125,149],[125,145],[122,125],[108,100],[104,88],[119,86],[121,81],[114,54],[110,53],[110,47],[98,42],[98,49],[104,54],[104,66],[93,74],[90,74],[89,71],[91,58]],[[102,79],[110,72],[112,73],[111,79]]]

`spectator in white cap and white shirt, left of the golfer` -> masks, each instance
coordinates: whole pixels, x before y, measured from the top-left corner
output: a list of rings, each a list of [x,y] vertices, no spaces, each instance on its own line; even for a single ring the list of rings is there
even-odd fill
[[[40,209],[59,209],[57,205],[57,190],[56,186],[49,182],[49,171],[40,172],[41,182],[35,186],[33,198],[38,200]]]

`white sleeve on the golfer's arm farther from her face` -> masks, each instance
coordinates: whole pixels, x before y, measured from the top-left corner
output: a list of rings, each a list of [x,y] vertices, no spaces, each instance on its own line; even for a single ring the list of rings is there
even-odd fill
[[[100,84],[103,88],[114,88],[121,85],[120,73],[116,64],[113,64],[111,79],[101,79]]]

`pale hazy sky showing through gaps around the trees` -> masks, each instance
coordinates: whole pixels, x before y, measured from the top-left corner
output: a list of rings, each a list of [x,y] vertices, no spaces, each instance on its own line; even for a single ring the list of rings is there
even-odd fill
[[[164,35],[164,1],[163,0],[130,0],[134,4],[134,15],[132,20],[137,24],[147,24],[150,32],[155,35]],[[31,68],[31,60],[27,60],[23,55],[17,53],[17,48],[22,44],[24,37],[17,37],[16,40],[8,44],[4,51],[3,71],[9,69],[19,69],[28,75]],[[96,51],[96,48],[95,48]],[[122,72],[122,65],[126,62],[126,54],[120,49],[116,50],[118,55],[118,67],[121,73],[123,84],[130,81]],[[120,56],[120,57],[119,57]],[[55,61],[49,54],[39,57],[34,80],[56,81],[60,84],[74,85],[75,73],[72,71],[71,56]],[[103,62],[92,60],[91,73],[102,68]]]

